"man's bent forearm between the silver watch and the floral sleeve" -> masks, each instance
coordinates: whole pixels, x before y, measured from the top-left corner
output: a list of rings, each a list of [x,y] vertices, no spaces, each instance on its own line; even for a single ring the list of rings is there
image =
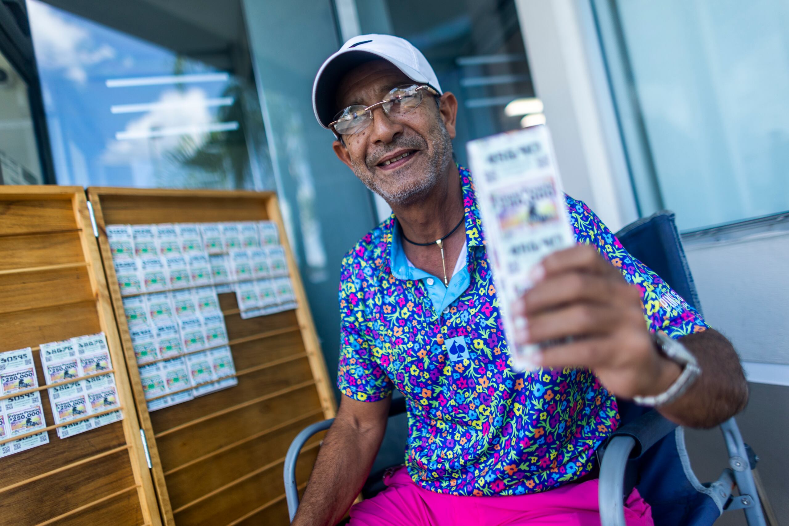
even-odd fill
[[[701,367],[701,376],[679,400],[659,408],[668,420],[687,427],[715,427],[745,408],[748,384],[731,343],[716,330],[680,338]]]

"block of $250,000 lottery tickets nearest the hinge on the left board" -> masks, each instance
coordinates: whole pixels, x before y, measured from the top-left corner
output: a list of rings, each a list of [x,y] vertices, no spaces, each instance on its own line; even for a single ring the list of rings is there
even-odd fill
[[[95,375],[48,390],[55,423],[66,424],[57,428],[58,437],[77,435],[123,418],[122,412],[113,411],[69,423],[82,416],[104,412],[121,405],[114,374],[100,374],[112,369],[110,349],[103,333],[41,344],[41,365],[47,384]]]

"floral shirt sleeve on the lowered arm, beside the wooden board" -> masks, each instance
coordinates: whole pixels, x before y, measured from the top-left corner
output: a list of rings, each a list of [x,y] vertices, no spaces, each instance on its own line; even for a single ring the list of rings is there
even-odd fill
[[[365,277],[359,265],[353,256],[342,260],[337,386],[353,400],[373,402],[388,397],[394,386],[372,353],[372,330],[365,316]]]

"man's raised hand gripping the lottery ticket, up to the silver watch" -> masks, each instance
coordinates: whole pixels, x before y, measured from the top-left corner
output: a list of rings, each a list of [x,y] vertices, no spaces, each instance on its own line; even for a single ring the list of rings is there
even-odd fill
[[[595,248],[552,253],[533,280],[514,305],[516,318],[526,320],[515,341],[559,341],[535,356],[535,365],[589,367],[608,391],[624,398],[660,394],[679,377],[679,365],[660,355],[649,335],[638,287]]]

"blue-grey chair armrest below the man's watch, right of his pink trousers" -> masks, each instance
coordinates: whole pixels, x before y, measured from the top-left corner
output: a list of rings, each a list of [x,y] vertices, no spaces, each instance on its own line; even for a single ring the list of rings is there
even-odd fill
[[[600,448],[603,451],[597,498],[601,526],[625,526],[624,495],[632,491],[632,487],[625,487],[627,461],[640,457],[676,427],[652,409],[614,431],[608,445]]]

